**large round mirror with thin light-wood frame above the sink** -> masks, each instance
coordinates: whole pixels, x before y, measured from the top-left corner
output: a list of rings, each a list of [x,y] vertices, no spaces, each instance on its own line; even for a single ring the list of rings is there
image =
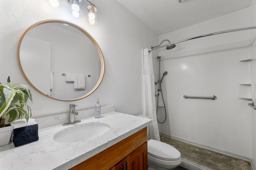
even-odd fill
[[[64,20],[44,20],[30,26],[18,45],[18,64],[30,86],[60,101],[89,96],[105,72],[95,39],[82,27]]]

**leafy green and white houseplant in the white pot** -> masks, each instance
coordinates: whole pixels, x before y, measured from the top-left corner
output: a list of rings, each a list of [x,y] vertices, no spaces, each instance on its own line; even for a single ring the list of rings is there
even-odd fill
[[[24,84],[11,84],[10,76],[7,83],[0,83],[0,128],[5,126],[5,118],[9,115],[8,122],[23,117],[28,122],[32,112],[27,105],[28,99],[32,102],[30,89]],[[26,110],[24,109],[26,106]]]

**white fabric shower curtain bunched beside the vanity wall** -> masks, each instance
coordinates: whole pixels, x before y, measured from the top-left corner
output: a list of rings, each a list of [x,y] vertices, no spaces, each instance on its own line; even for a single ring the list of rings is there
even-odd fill
[[[144,49],[143,54],[143,115],[152,119],[152,124],[148,126],[149,139],[160,141],[158,123],[156,118],[156,99],[154,85],[154,69],[153,69],[152,53],[148,53],[148,49]]]

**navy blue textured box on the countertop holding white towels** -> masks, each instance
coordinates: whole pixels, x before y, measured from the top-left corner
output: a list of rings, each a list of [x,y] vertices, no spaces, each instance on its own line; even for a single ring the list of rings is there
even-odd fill
[[[13,144],[15,147],[38,141],[38,124],[13,129]]]

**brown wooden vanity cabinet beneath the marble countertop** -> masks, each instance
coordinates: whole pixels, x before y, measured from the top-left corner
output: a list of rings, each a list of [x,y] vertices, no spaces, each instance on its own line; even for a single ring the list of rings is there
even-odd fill
[[[147,170],[147,152],[145,127],[70,170]]]

